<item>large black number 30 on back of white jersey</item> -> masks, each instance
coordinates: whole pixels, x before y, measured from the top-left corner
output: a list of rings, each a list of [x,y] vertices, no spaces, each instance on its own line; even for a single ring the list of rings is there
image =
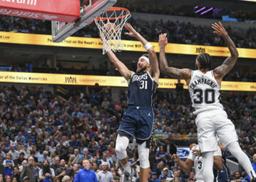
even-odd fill
[[[194,103],[215,103],[215,95],[213,89],[195,89],[194,94],[197,95],[197,98],[194,99]],[[204,98],[203,98],[204,95]],[[211,100],[209,98],[209,95],[211,95]]]

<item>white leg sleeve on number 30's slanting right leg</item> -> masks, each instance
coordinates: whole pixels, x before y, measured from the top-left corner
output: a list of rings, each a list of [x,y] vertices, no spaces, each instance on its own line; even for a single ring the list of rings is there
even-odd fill
[[[227,146],[227,149],[230,151],[230,153],[233,155],[233,157],[236,157],[238,159],[239,164],[244,168],[246,173],[251,178],[256,178],[255,170],[252,168],[252,164],[249,161],[249,158],[244,154],[244,151],[241,150],[238,142],[230,143]],[[252,176],[253,175],[253,176]]]

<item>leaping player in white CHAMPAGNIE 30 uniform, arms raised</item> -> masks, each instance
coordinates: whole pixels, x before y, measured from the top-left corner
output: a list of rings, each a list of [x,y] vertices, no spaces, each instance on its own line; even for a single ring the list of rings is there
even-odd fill
[[[214,181],[213,164],[214,151],[217,151],[217,138],[222,142],[230,153],[238,159],[240,165],[246,170],[252,179],[256,181],[255,171],[252,169],[249,158],[244,154],[238,144],[238,137],[234,124],[227,119],[227,113],[223,110],[223,106],[219,103],[219,90],[222,78],[233,68],[238,59],[238,51],[236,45],[227,35],[225,28],[221,23],[212,24],[214,33],[222,36],[227,47],[230,50],[228,57],[222,66],[212,70],[212,58],[207,53],[197,55],[195,64],[198,70],[178,69],[167,66],[165,57],[165,47],[167,46],[166,33],[159,35],[160,47],[160,68],[163,73],[175,76],[179,79],[185,79],[189,86],[189,93],[192,99],[192,106],[195,108],[197,118],[197,138],[200,151],[203,157],[203,178],[205,182]]]

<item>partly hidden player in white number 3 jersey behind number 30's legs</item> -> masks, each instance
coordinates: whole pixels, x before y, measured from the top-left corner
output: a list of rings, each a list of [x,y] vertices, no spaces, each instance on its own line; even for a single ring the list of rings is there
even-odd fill
[[[182,161],[177,154],[173,154],[174,161],[178,162],[184,170],[191,170],[191,168],[195,167],[195,178],[197,182],[203,181],[203,158],[194,153],[195,150],[199,150],[199,146],[193,143],[190,147],[189,157],[187,157],[186,162]],[[214,166],[217,167],[217,170],[222,170],[222,151],[219,149],[214,151]]]

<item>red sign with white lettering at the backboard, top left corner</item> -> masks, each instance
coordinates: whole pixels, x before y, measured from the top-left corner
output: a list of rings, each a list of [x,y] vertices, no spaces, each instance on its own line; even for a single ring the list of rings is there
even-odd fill
[[[80,0],[0,0],[0,14],[73,23],[80,17]]]

